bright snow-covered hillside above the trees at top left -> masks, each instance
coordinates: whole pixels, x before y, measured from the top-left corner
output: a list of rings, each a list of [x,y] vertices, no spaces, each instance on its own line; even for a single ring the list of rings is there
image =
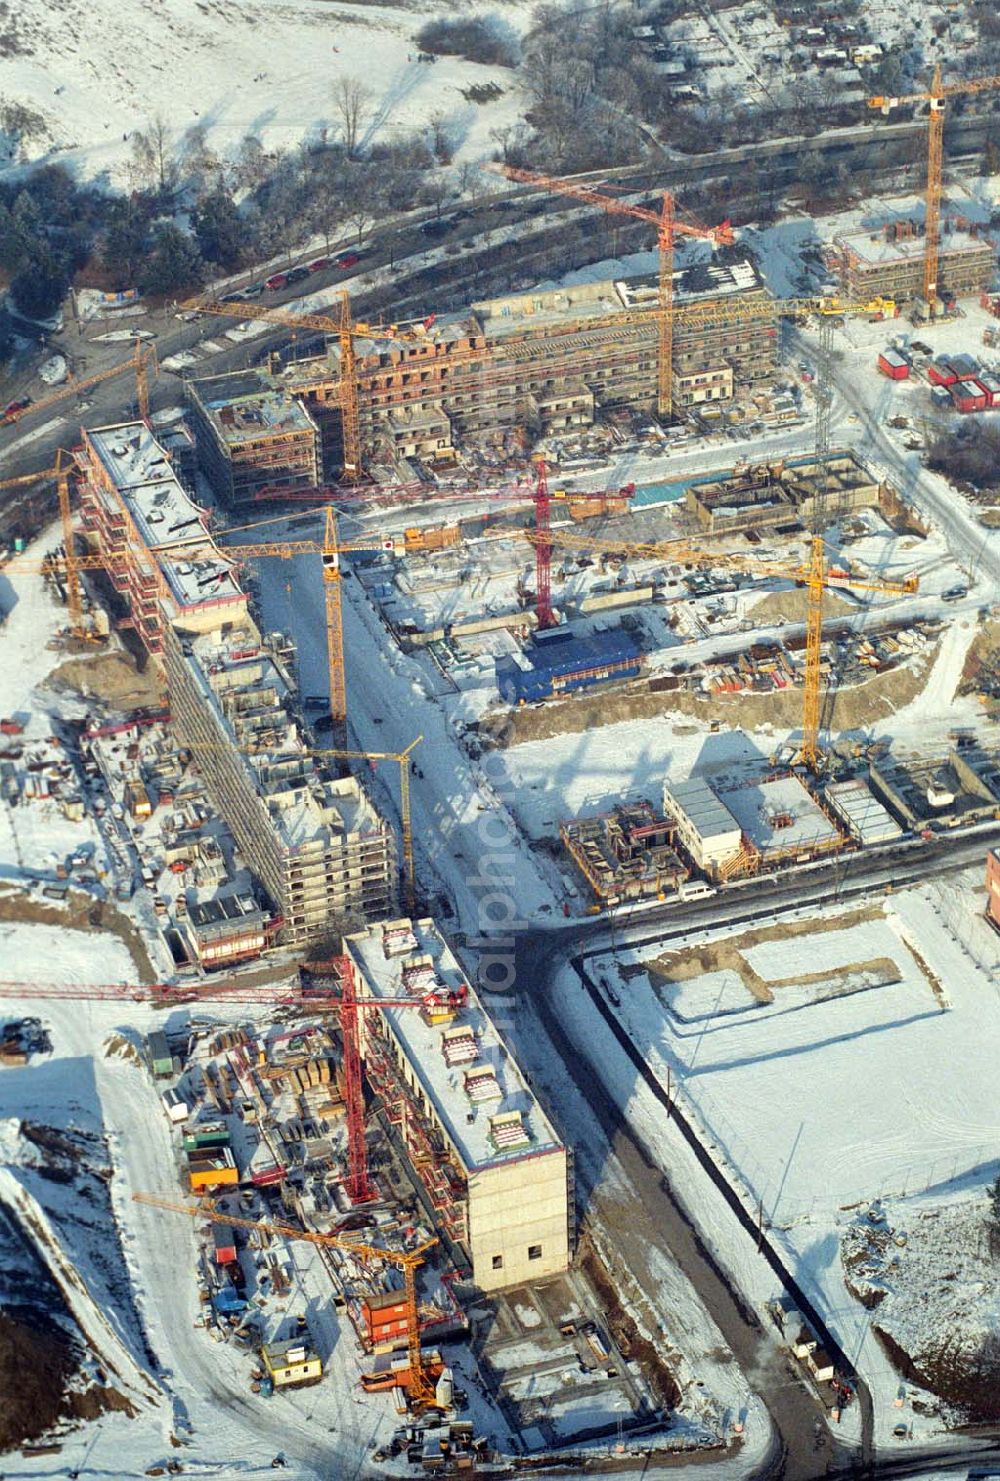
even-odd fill
[[[204,129],[216,154],[256,135],[265,150],[339,136],[333,92],[344,77],[370,90],[363,142],[446,120],[455,157],[490,153],[490,130],[521,108],[516,73],[459,58],[418,62],[416,33],[453,16],[446,0],[421,6],[327,0],[19,0],[0,7],[0,105],[40,116],[18,141],[0,130],[0,175],[40,158],[84,176],[129,176],[129,135],[161,118],[184,156]],[[530,4],[465,6],[462,15],[527,25]],[[464,90],[496,83],[502,96],[476,104]],[[326,133],[324,133],[326,130]]]

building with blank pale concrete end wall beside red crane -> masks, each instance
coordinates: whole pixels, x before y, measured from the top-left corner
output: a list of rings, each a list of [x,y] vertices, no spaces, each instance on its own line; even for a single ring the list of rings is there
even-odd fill
[[[433,920],[347,936],[364,1074],[396,1126],[436,1226],[480,1290],[564,1271],[572,1157]],[[409,1000],[409,1001],[407,1001]]]

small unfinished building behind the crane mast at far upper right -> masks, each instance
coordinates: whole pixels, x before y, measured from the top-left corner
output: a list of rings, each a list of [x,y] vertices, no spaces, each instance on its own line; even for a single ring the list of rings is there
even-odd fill
[[[923,296],[927,238],[923,227],[896,222],[880,231],[858,231],[834,240],[831,265],[840,273],[846,298]],[[993,281],[996,247],[972,231],[945,230],[938,250],[938,290],[978,293]]]

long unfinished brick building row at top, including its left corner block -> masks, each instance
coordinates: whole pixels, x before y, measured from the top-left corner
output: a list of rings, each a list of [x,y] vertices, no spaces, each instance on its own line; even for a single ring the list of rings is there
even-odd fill
[[[772,378],[776,329],[741,308],[769,298],[745,252],[679,268],[674,305],[713,308],[710,321],[674,321],[674,406],[729,401]],[[447,465],[462,438],[521,428],[529,435],[588,427],[615,409],[653,410],[658,392],[656,278],[584,283],[510,293],[467,312],[428,318],[406,333],[354,341],[359,428],[366,458],[399,465]],[[732,305],[732,315],[723,310]],[[241,502],[270,487],[305,483],[310,432],[320,429],[329,477],[342,462],[341,348],[284,367],[236,372],[190,387],[204,471],[221,498]],[[237,437],[241,407],[267,390],[286,407],[304,404],[302,425],[252,428]],[[299,462],[301,459],[301,462]],[[313,478],[319,481],[319,478]]]

